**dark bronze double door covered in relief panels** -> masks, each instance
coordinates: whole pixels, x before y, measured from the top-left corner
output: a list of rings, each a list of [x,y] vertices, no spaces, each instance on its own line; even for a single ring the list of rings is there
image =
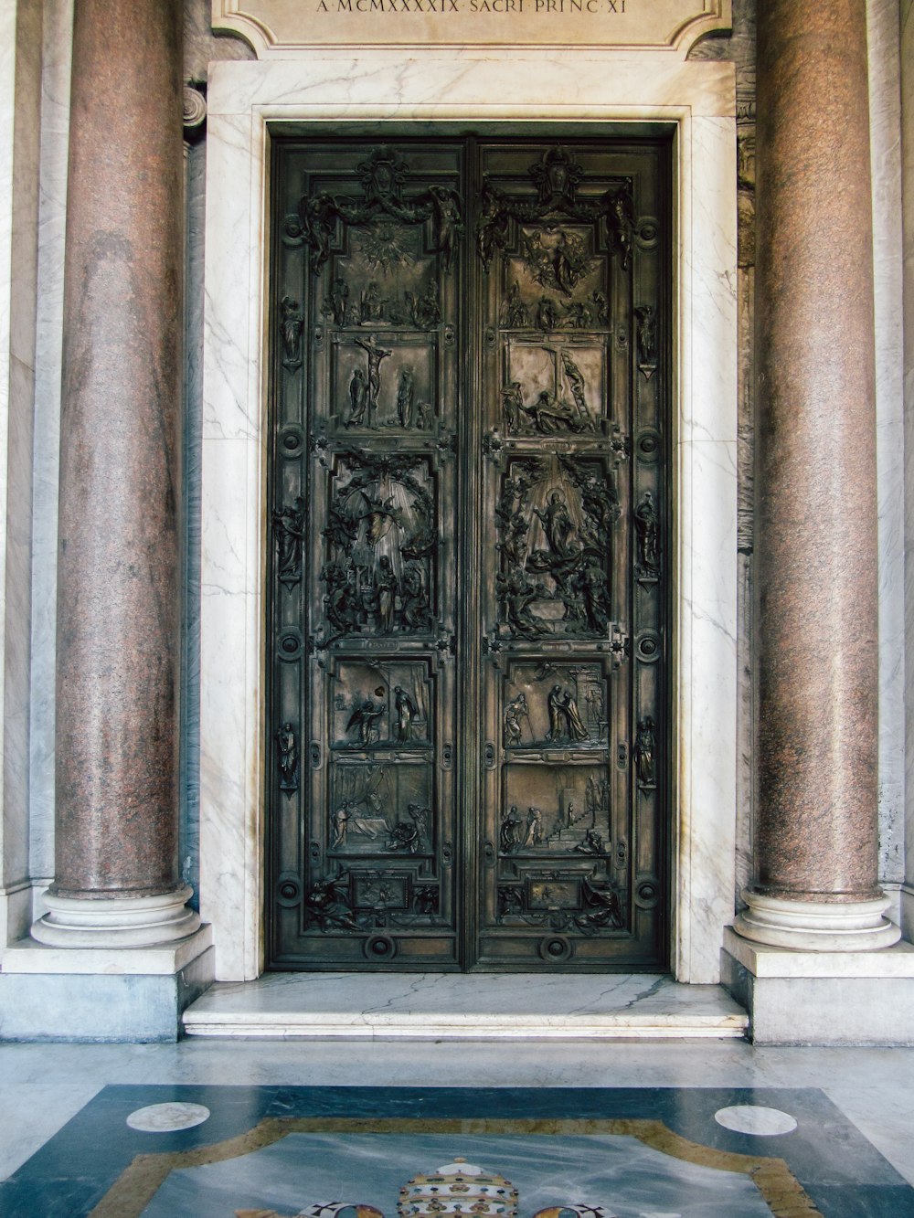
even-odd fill
[[[273,181],[271,966],[665,967],[669,145]]]

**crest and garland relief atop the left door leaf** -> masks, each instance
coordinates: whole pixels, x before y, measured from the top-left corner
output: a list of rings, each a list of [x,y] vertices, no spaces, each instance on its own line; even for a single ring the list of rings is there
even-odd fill
[[[340,225],[344,229],[357,225],[377,230],[385,222],[413,227],[427,220],[431,222],[434,247],[441,255],[442,268],[451,272],[463,231],[463,205],[458,192],[436,183],[413,195],[405,194],[409,168],[386,145],[377,147],[368,160],[361,161],[356,172],[361,177],[362,199],[322,190],[311,197],[305,196],[299,205],[301,239],[311,247],[314,273],[319,273],[330,257]],[[386,267],[386,259],[392,253],[390,242],[381,240],[377,252],[379,264]]]

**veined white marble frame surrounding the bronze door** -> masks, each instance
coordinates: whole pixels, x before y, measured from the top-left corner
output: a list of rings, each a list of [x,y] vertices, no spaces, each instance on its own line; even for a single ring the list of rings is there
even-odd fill
[[[675,772],[671,966],[715,982],[736,820],[736,119],[734,67],[669,51],[300,51],[221,62],[208,88],[202,438],[201,915],[216,976],[263,966],[271,139],[409,123],[674,130],[671,473]],[[635,127],[634,124],[637,124]]]

